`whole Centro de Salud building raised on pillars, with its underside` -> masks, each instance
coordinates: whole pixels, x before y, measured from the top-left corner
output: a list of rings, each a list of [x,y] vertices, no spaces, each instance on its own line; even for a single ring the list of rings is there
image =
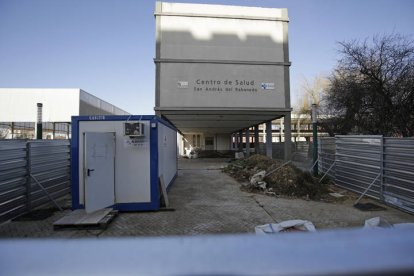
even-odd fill
[[[183,148],[227,151],[282,117],[290,141],[286,9],[157,2],[155,18],[155,111]]]

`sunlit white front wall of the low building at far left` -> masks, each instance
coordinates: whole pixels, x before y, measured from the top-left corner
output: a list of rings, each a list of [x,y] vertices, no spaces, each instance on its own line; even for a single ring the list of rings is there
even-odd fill
[[[79,115],[79,93],[77,88],[0,88],[0,122],[36,122],[37,103],[43,104],[44,122],[70,122]]]

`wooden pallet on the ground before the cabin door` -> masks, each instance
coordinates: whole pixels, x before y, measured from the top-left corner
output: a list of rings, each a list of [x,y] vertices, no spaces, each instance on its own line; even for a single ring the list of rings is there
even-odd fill
[[[84,209],[74,210],[53,223],[53,230],[104,230],[118,215],[112,208],[87,214]]]

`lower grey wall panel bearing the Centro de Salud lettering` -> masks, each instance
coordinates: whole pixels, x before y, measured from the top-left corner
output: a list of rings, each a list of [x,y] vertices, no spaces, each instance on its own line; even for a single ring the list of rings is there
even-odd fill
[[[161,65],[161,76],[162,107],[285,107],[281,67],[167,63]],[[181,88],[180,81],[188,86]],[[245,81],[249,84],[237,85]],[[262,83],[274,83],[275,89],[264,90]]]

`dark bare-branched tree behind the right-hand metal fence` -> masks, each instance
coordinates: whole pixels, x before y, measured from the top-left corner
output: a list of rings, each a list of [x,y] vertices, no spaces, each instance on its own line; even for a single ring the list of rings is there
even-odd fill
[[[339,43],[326,95],[337,132],[414,135],[414,43],[399,34]]]

